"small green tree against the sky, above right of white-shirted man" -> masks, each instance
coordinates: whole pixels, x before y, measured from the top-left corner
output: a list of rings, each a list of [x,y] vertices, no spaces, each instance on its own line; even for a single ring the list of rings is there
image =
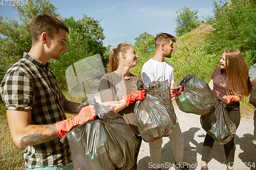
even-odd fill
[[[191,31],[192,29],[196,28],[200,21],[198,20],[197,16],[198,10],[190,10],[189,7],[184,6],[179,11],[176,11],[177,16],[175,17],[175,21],[177,27],[175,28],[176,36],[180,37],[181,35],[185,34],[186,32]]]

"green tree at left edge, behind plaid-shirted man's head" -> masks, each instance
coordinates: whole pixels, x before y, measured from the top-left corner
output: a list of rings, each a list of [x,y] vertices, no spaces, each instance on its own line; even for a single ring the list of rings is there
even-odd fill
[[[28,5],[13,6],[18,12],[22,24],[12,18],[0,16],[0,81],[2,81],[7,69],[18,59],[22,58],[23,52],[29,52],[31,38],[29,26],[31,20],[38,14],[50,13],[57,17],[60,15],[49,1],[28,0]]]

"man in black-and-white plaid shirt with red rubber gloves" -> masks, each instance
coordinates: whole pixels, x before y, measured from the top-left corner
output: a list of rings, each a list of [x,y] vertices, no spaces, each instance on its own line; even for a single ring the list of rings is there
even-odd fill
[[[14,143],[24,151],[27,169],[73,169],[69,144],[60,138],[73,126],[95,119],[94,106],[77,109],[68,101],[49,69],[50,59],[67,51],[66,25],[50,14],[37,15],[30,25],[32,47],[13,64],[1,83]],[[104,105],[115,108],[115,102]],[[66,118],[65,113],[78,114]],[[48,168],[47,168],[48,169]]]

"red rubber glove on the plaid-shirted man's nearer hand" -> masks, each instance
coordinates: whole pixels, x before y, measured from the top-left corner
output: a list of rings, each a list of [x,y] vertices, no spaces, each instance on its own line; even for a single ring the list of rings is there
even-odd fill
[[[88,105],[83,107],[75,117],[55,123],[55,129],[59,138],[61,139],[73,126],[83,124],[89,120],[95,120],[95,113],[95,107]]]

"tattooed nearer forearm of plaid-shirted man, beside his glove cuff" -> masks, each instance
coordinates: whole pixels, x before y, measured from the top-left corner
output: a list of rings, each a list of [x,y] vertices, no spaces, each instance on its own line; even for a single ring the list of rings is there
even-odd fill
[[[32,128],[34,129],[34,132],[32,134],[24,136],[20,140],[20,144],[22,145],[22,147],[26,147],[27,145],[45,143],[58,137],[54,125],[37,125]]]

